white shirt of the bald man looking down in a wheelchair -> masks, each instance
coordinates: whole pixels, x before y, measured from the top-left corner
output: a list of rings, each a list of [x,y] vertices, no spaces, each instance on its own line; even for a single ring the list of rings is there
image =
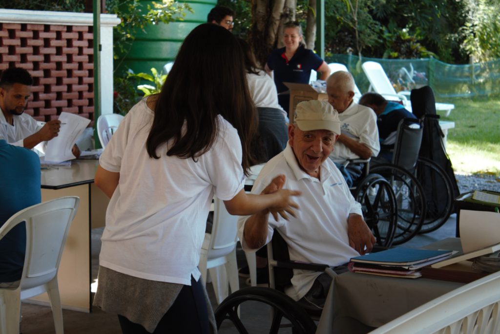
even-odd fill
[[[340,119],[340,130],[359,143],[368,146],[371,156],[376,157],[380,151],[378,141],[378,128],[376,126],[376,115],[368,107],[352,102],[347,109],[338,114]],[[330,158],[337,163],[343,163],[347,159],[359,159],[354,152],[338,140],[335,143]]]

